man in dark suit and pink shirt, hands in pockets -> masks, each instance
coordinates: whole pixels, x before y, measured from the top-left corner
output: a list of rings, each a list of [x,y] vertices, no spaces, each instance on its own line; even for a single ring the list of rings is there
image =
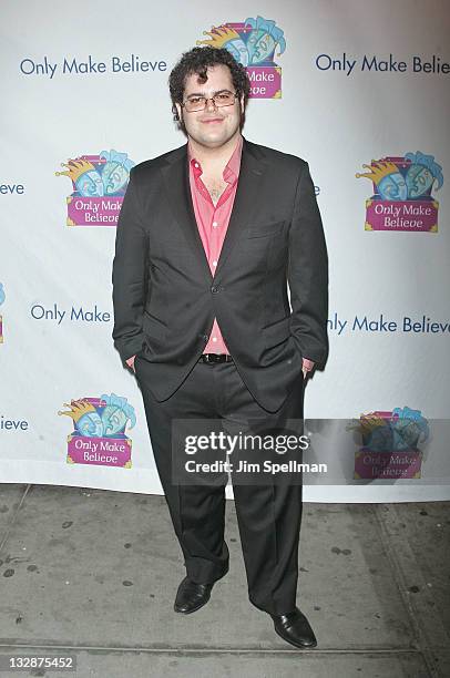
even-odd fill
[[[135,166],[113,265],[113,338],[136,373],[193,613],[228,569],[224,485],[173,482],[171,424],[303,418],[304,377],[328,342],[327,253],[305,161],[242,136],[249,81],[224,49],[194,48],[170,76],[187,144]],[[256,106],[255,106],[256,107]],[[286,280],[290,290],[289,308]],[[296,647],[301,484],[236,484],[250,602]]]

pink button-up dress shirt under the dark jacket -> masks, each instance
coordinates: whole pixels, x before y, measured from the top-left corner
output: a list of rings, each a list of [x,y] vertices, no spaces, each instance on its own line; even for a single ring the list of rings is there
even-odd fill
[[[194,205],[195,220],[197,223],[198,233],[202,238],[203,248],[211,273],[214,273],[221,255],[222,245],[224,244],[226,230],[228,228],[229,217],[236,196],[237,179],[241,170],[243,138],[236,144],[232,157],[223,172],[224,181],[228,184],[216,205],[214,205],[211,195],[202,181],[202,166],[200,162],[193,157],[191,145],[187,144],[187,153],[190,161],[190,185],[192,202]],[[217,325],[217,319],[214,318],[213,329],[211,330],[208,342],[204,349],[204,353],[229,353],[221,329]]]

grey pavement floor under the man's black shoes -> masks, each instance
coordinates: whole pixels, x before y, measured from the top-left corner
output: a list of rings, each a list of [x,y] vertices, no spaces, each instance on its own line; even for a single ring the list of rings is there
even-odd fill
[[[0,676],[450,676],[450,503],[305,504],[296,650],[247,599],[234,503],[228,575],[173,612],[183,562],[161,496],[0,485]],[[6,656],[76,657],[76,672]]]

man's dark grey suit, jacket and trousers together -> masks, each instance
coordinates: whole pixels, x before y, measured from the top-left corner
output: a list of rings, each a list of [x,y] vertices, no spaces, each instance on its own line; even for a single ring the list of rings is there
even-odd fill
[[[290,289],[289,308],[286,282]],[[308,164],[244,140],[232,217],[214,277],[193,210],[187,145],[131,171],[113,265],[113,338],[136,355],[153,452],[187,574],[223,576],[223,487],[171,477],[175,418],[253,418],[268,427],[303,417],[301,358],[328,353],[328,266]],[[198,358],[214,318],[234,363]],[[252,602],[295,607],[300,486],[236,486]]]

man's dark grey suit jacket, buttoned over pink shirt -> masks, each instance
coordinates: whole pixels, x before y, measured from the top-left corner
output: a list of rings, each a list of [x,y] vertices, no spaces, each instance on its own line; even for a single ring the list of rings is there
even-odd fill
[[[286,282],[290,290],[290,306]],[[157,401],[207,343],[214,317],[246,387],[276,411],[301,358],[328,353],[328,259],[308,164],[244,140],[212,275],[195,222],[187,144],[132,168],[113,263],[113,339]]]

